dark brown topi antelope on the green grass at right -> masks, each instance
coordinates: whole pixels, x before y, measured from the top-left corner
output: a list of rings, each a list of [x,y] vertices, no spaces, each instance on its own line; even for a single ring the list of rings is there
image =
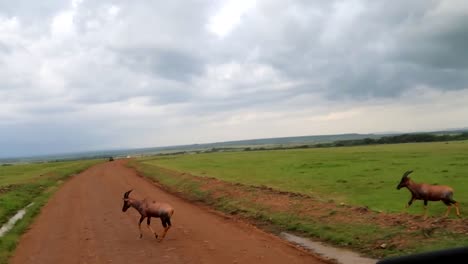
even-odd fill
[[[398,184],[397,189],[403,187],[408,188],[411,192],[411,199],[409,200],[406,208],[408,208],[414,200],[423,200],[424,201],[424,219],[426,219],[427,214],[427,202],[428,201],[442,201],[447,205],[447,211],[445,216],[447,217],[452,209],[452,204],[455,205],[457,210],[457,216],[460,217],[460,210],[458,208],[458,202],[453,199],[453,189],[449,186],[443,185],[430,185],[427,183],[415,183],[412,181],[408,175],[413,171],[407,171],[403,174],[400,184]]]

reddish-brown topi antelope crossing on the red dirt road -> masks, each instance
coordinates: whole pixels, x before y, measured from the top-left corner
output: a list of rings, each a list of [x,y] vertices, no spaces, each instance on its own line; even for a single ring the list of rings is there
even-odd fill
[[[171,217],[174,214],[174,208],[170,206],[169,204],[166,203],[159,203],[156,201],[148,201],[146,199],[143,200],[136,200],[133,198],[129,198],[128,195],[130,194],[132,190],[124,193],[124,204],[122,207],[122,212],[127,211],[128,208],[133,207],[135,208],[141,215],[140,221],[138,222],[138,229],[140,230],[140,238],[143,237],[143,233],[141,232],[141,222],[145,218],[146,224],[148,226],[148,229],[153,232],[154,236],[158,238],[158,234],[154,232],[154,230],[151,228],[151,217],[156,217],[161,219],[161,223],[164,227],[164,233],[162,234],[161,239],[159,240],[160,242],[163,240],[163,238],[166,236],[167,231],[169,228],[171,228]]]

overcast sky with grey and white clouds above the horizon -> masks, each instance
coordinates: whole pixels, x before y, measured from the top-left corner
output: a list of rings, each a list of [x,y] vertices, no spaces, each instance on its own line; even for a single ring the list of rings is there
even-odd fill
[[[0,157],[468,126],[468,4],[0,0]]]

